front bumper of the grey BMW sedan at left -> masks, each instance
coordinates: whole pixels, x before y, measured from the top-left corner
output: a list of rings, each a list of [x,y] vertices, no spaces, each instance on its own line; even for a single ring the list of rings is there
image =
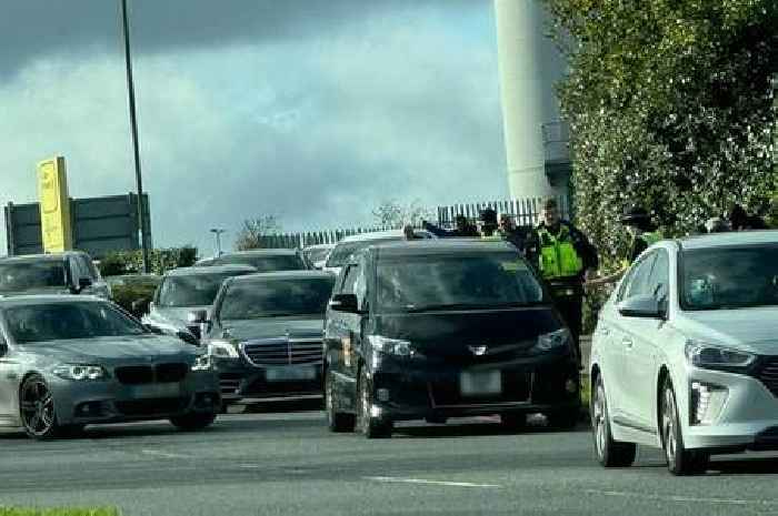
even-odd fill
[[[122,385],[109,382],[51,381],[58,422],[88,425],[164,419],[221,407],[215,373],[190,373],[179,383]]]

